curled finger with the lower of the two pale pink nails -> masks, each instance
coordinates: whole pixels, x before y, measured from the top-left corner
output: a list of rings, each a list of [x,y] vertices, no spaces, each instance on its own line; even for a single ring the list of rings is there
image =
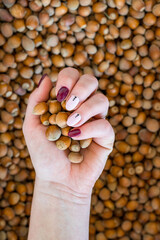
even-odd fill
[[[91,117],[104,118],[107,115],[108,107],[107,97],[102,93],[96,93],[68,117],[67,125],[79,127]]]

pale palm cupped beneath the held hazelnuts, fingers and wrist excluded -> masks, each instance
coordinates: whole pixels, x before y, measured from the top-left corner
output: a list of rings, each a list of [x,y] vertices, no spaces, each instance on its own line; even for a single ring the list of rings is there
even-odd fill
[[[69,150],[57,149],[55,143],[46,139],[45,130],[46,127],[39,125],[35,130],[31,130],[26,138],[37,176],[43,180],[64,184],[77,192],[88,193],[104,167],[106,150],[92,142],[82,151],[84,161],[81,164],[72,164],[67,159]],[[99,161],[95,161],[96,159]]]

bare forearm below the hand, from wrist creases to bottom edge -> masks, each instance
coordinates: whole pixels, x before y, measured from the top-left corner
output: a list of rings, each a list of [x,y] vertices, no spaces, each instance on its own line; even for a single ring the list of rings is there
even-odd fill
[[[36,179],[28,240],[88,240],[90,197]]]

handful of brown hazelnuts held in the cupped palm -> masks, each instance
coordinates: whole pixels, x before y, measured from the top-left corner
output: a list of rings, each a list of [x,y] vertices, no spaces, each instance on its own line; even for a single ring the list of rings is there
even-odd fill
[[[72,129],[67,126],[67,119],[71,112],[68,112],[65,106],[65,100],[57,101],[55,87],[53,87],[50,91],[50,99],[47,102],[38,103],[33,109],[33,114],[39,115],[41,123],[48,126],[46,138],[55,142],[59,150],[69,149],[68,159],[70,162],[80,163],[83,161],[80,150],[81,148],[87,148],[91,144],[92,138],[78,141],[68,136]]]

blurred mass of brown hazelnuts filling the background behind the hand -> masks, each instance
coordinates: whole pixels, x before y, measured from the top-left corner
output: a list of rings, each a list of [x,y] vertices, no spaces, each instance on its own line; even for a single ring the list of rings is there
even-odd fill
[[[41,76],[55,86],[64,67],[97,77],[116,133],[90,240],[159,240],[159,0],[0,0],[0,239],[27,239],[35,173],[23,119]]]

